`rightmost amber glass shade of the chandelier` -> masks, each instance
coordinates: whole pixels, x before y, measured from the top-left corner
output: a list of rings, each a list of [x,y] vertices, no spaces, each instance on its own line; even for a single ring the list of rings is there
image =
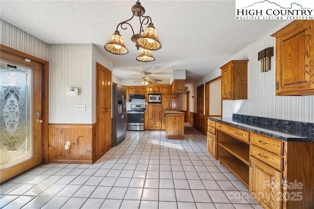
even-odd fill
[[[152,23],[148,25],[143,35],[137,39],[136,43],[147,50],[159,50],[161,48],[156,29]]]

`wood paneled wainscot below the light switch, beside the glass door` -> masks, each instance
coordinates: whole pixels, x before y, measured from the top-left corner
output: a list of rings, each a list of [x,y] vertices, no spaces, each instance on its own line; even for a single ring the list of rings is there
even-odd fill
[[[96,156],[96,124],[49,124],[48,163],[92,164]],[[65,149],[70,142],[70,149]]]

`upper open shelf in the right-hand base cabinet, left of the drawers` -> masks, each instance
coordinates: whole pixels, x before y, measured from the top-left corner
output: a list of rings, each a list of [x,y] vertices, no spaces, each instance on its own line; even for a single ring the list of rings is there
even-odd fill
[[[245,164],[249,165],[250,148],[248,144],[218,142],[218,145],[239,158]]]

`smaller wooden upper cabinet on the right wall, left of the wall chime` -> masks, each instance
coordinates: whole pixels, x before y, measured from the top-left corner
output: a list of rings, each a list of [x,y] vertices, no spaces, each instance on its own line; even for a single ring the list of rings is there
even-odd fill
[[[249,60],[231,60],[221,66],[221,99],[247,99],[247,62]]]

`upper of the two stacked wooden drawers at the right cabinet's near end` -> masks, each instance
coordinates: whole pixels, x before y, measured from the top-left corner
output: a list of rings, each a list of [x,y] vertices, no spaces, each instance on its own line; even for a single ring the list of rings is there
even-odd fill
[[[250,134],[250,144],[265,149],[271,153],[282,156],[284,151],[284,142],[258,133]]]

